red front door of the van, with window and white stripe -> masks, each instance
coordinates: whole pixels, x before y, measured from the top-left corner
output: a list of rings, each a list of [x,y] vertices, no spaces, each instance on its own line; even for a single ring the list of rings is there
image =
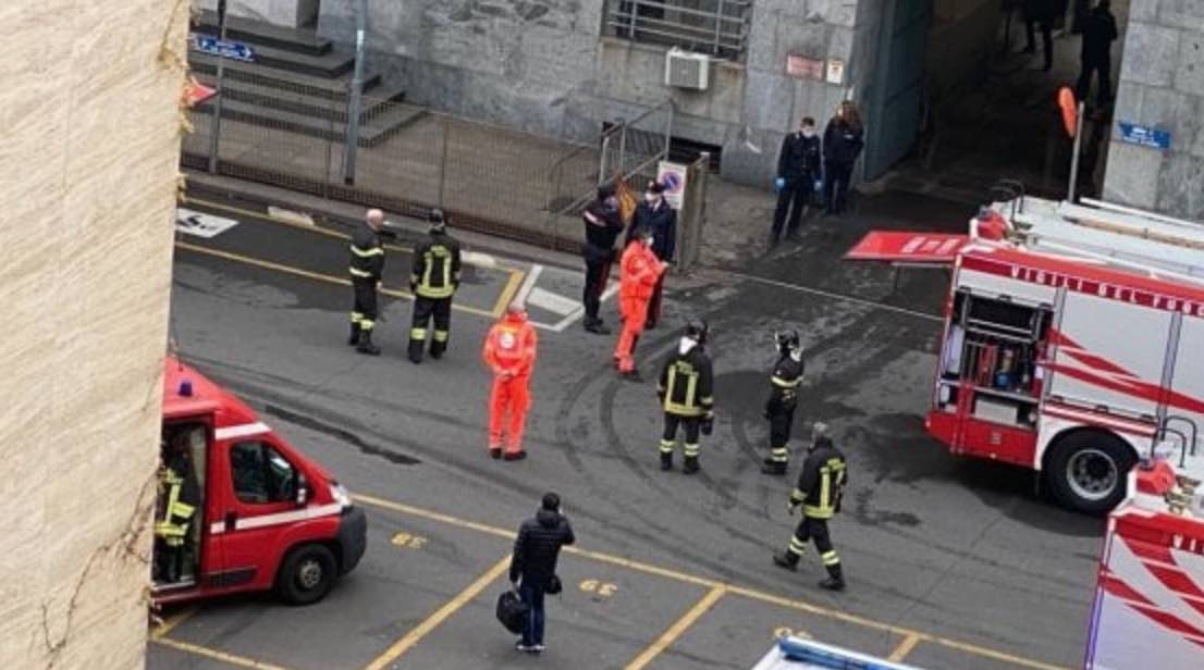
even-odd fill
[[[278,559],[279,535],[305,517],[297,504],[301,470],[271,434],[230,440],[225,505],[220,520],[225,587],[267,588]]]

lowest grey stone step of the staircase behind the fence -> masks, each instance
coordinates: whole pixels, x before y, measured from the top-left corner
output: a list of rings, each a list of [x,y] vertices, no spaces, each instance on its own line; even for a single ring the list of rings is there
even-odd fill
[[[197,105],[193,112],[212,115],[213,106],[213,101],[207,101]],[[358,144],[365,148],[377,147],[425,114],[424,107],[403,102],[389,103],[361,123]],[[347,125],[342,123],[331,124],[306,114],[267,109],[237,100],[222,103],[222,118],[330,141],[342,141],[347,135]]]

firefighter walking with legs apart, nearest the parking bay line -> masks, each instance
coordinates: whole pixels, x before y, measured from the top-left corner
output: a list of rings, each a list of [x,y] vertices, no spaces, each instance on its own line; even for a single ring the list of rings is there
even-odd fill
[[[844,589],[840,557],[832,549],[827,522],[840,511],[840,496],[848,482],[844,455],[828,438],[827,426],[816,421],[811,427],[811,446],[803,461],[803,470],[798,474],[798,486],[790,493],[790,502],[786,504],[789,514],[795,514],[795,509],[803,505],[803,520],[798,522],[786,551],[773,556],[775,565],[797,570],[798,558],[807,550],[807,540],[815,540],[815,549],[828,573],[820,586],[828,591]]]

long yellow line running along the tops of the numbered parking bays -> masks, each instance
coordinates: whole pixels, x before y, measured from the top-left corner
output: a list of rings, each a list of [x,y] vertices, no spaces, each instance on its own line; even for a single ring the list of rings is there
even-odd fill
[[[394,503],[391,500],[384,500],[382,498],[376,498],[376,497],[372,497],[372,496],[355,494],[354,498],[356,500],[364,503],[364,504],[367,504],[367,505],[372,505],[372,506],[377,506],[377,508],[382,508],[382,509],[388,509],[388,510],[394,510],[394,511],[399,511],[399,512],[402,512],[402,514],[408,514],[411,516],[415,516],[415,517],[419,517],[419,518],[426,518],[426,520],[430,520],[430,521],[437,521],[439,523],[447,523],[448,526],[455,526],[455,527],[459,527],[459,528],[467,528],[467,529],[471,529],[471,530],[478,530],[480,533],[488,533],[490,535],[497,535],[500,538],[506,538],[506,539],[513,539],[514,538],[514,532],[513,530],[509,530],[509,529],[506,529],[506,528],[500,528],[500,527],[496,527],[496,526],[489,526],[486,523],[478,523],[476,521],[468,521],[468,520],[460,518],[460,517],[452,516],[452,515],[443,514],[443,512],[437,512],[437,511],[432,511],[432,510],[427,510],[427,509],[423,509],[423,508],[415,508],[413,505],[406,505],[406,504],[402,504],[402,503]],[[913,630],[910,628],[903,628],[903,627],[899,627],[899,625],[892,625],[892,624],[884,623],[884,622],[880,622],[880,621],[874,621],[874,619],[860,617],[857,615],[850,615],[850,613],[843,612],[840,610],[832,610],[832,609],[828,609],[828,607],[822,607],[820,605],[814,605],[814,604],[808,603],[805,600],[795,600],[795,599],[791,599],[791,598],[783,598],[780,595],[774,595],[772,593],[766,593],[763,591],[756,591],[756,589],[752,589],[752,588],[744,588],[744,587],[739,587],[739,586],[732,586],[732,585],[727,585],[727,583],[724,583],[724,582],[718,581],[718,580],[701,577],[701,576],[697,576],[697,575],[691,575],[691,574],[687,574],[687,573],[681,573],[681,571],[673,570],[673,569],[669,569],[669,568],[659,568],[656,565],[650,565],[650,564],[647,564],[647,563],[639,563],[637,561],[630,561],[627,558],[622,558],[621,556],[613,556],[613,555],[609,555],[609,553],[602,553],[602,552],[596,552],[596,551],[583,550],[583,549],[578,549],[576,546],[567,546],[567,547],[563,549],[563,551],[565,551],[565,553],[572,553],[572,555],[582,556],[584,558],[590,558],[590,559],[600,561],[600,562],[603,562],[603,563],[610,563],[612,565],[619,565],[619,567],[622,567],[622,568],[627,568],[627,569],[635,570],[637,573],[644,573],[644,574],[649,574],[649,575],[656,575],[656,576],[661,576],[661,577],[666,577],[666,579],[672,579],[672,580],[685,582],[685,583],[692,583],[692,585],[697,585],[697,586],[704,586],[704,587],[709,587],[712,589],[721,588],[721,589],[724,589],[725,593],[730,593],[732,595],[739,595],[739,597],[743,597],[743,598],[748,598],[750,600],[757,600],[757,601],[766,603],[766,604],[769,604],[769,605],[778,605],[780,607],[786,607],[786,609],[791,609],[791,610],[808,612],[808,613],[813,613],[813,615],[821,616],[821,617],[825,617],[825,618],[831,618],[831,619],[836,619],[836,621],[843,621],[843,622],[846,622],[846,623],[852,623],[852,624],[861,625],[863,628],[869,628],[869,629],[873,629],[873,630],[884,630],[884,632],[887,632],[887,633],[893,633],[893,634],[899,635],[899,636],[902,636],[904,639],[907,639],[907,638],[915,638],[916,639],[916,644],[919,644],[919,642],[936,642],[936,644],[939,644],[939,645],[943,645],[943,646],[946,646],[946,647],[950,647],[950,648],[955,648],[955,650],[958,650],[958,651],[962,651],[962,652],[966,652],[966,653],[969,653],[969,654],[973,654],[973,656],[981,656],[981,657],[985,657],[985,658],[992,658],[992,659],[996,659],[996,660],[1002,660],[1004,663],[1010,663],[1013,665],[1020,665],[1020,666],[1023,666],[1023,668],[1033,668],[1034,670],[1069,670],[1068,668],[1062,666],[1062,665],[1055,665],[1055,664],[1051,664],[1051,663],[1043,663],[1040,660],[1034,660],[1034,659],[1031,659],[1031,658],[1025,658],[1025,657],[1021,657],[1021,656],[1015,656],[1015,654],[1010,654],[1010,653],[1007,653],[1007,652],[996,651],[996,650],[992,650],[992,648],[988,648],[988,647],[981,647],[979,645],[973,645],[973,644],[969,644],[969,642],[960,642],[957,640],[950,640],[948,638],[938,638],[936,635],[931,635],[931,634],[927,634],[927,633],[921,633],[919,630]],[[904,640],[904,641],[907,641],[907,640]],[[898,650],[896,650],[896,651],[898,651]]]

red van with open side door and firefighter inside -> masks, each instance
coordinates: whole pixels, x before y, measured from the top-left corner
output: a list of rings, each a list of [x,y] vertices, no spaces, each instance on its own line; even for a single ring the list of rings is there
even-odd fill
[[[154,601],[321,599],[364,556],[364,510],[238,398],[175,357],[164,372]]]

